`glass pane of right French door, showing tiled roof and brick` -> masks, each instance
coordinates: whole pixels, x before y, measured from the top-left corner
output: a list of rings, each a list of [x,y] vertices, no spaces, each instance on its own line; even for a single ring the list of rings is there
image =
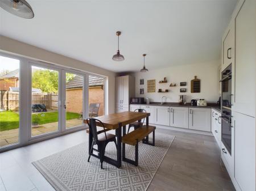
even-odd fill
[[[66,128],[73,128],[75,126],[83,125],[83,88],[83,76],[66,73]]]

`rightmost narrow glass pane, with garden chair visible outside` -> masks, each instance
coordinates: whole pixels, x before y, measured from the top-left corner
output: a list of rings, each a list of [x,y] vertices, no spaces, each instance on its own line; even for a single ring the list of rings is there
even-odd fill
[[[89,75],[89,117],[97,117],[104,115],[104,85],[104,78]]]

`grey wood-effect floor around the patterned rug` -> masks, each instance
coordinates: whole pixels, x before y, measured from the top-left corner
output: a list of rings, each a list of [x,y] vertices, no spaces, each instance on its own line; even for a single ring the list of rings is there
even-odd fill
[[[156,129],[175,135],[148,191],[235,190],[214,137],[174,130]],[[0,190],[50,191],[52,186],[31,164],[56,152],[84,142],[85,130],[0,153]]]

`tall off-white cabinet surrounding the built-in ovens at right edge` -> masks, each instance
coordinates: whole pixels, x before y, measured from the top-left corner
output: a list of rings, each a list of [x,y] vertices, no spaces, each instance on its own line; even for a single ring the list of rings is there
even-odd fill
[[[230,95],[232,96],[232,152],[225,153],[226,149],[222,144],[221,157],[237,191],[256,189],[255,12],[255,0],[238,1],[222,37],[222,70],[232,63],[232,95]],[[231,50],[228,50],[230,47]]]

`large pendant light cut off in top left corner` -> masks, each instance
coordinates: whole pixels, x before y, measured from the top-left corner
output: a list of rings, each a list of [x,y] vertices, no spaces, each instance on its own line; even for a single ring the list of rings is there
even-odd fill
[[[32,8],[25,0],[0,0],[0,7],[24,19],[34,18]]]

